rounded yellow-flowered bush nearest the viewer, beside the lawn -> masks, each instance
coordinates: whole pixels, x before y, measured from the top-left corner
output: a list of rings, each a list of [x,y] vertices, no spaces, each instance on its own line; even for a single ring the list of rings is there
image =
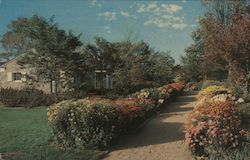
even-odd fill
[[[49,108],[48,119],[56,141],[70,147],[106,148],[126,125],[115,103],[89,99],[55,104]]]

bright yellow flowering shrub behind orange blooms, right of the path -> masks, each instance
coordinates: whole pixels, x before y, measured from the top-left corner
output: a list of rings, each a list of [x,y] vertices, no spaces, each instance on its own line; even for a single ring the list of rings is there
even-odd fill
[[[230,89],[225,88],[224,86],[209,86],[203,90],[201,90],[197,95],[197,100],[200,100],[204,96],[208,95],[217,95],[217,94],[231,94],[232,91]]]

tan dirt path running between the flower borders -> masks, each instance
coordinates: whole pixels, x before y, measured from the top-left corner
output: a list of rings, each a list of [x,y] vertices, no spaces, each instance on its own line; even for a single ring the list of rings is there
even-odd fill
[[[125,137],[105,160],[191,160],[184,142],[184,125],[195,93],[185,93],[166,106],[135,135]]]

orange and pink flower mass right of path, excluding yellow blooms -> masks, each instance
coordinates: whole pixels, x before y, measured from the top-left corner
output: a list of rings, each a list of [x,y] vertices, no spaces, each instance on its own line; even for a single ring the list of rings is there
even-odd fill
[[[192,125],[186,134],[191,151],[196,155],[220,154],[243,143],[245,131],[234,102],[221,102],[194,110]]]

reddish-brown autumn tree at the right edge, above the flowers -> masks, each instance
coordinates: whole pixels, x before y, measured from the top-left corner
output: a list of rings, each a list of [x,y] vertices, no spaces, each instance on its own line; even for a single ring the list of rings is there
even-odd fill
[[[225,1],[231,5],[227,23],[210,15],[202,19],[201,26],[206,33],[206,55],[221,57],[228,63],[229,78],[234,84],[244,81],[245,92],[249,92],[249,10],[245,1]],[[234,4],[234,5],[232,5]]]

